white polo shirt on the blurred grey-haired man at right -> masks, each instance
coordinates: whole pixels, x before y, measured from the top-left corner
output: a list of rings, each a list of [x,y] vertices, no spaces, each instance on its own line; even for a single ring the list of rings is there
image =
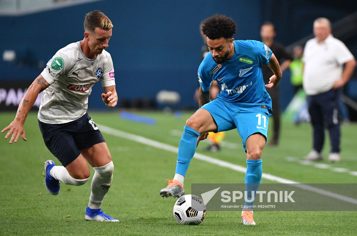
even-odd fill
[[[332,89],[335,81],[342,77],[343,64],[353,58],[346,45],[332,35],[321,43],[317,38],[308,40],[302,57],[306,94],[316,95]]]

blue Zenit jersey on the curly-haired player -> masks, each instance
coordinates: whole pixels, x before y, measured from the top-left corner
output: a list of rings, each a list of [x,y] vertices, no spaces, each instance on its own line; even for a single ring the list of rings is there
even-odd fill
[[[271,98],[265,89],[260,64],[269,63],[272,51],[255,40],[235,40],[233,44],[235,53],[229,60],[217,64],[211,52],[203,59],[198,67],[202,90],[210,89],[212,80],[215,80],[221,87],[217,99],[241,110],[271,114]]]

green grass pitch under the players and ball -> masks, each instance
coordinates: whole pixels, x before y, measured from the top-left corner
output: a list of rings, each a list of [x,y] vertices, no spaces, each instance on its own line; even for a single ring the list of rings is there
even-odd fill
[[[120,119],[117,111],[90,112],[93,120],[113,129],[178,146],[180,132],[192,112],[181,118],[161,112],[136,112],[157,119],[156,125],[145,125]],[[15,112],[1,112],[1,129]],[[270,122],[272,124],[272,122]],[[90,181],[83,186],[61,184],[60,194],[52,196],[44,186],[43,163],[55,157],[47,150],[36,112],[25,123],[27,141],[8,144],[0,138],[0,235],[356,235],[357,212],[256,212],[257,226],[241,224],[240,212],[207,212],[198,226],[178,225],[172,215],[175,200],[159,195],[175,172],[177,154],[103,133],[115,165],[112,186],[102,204],[107,214],[119,223],[89,222],[84,212],[89,200]],[[342,161],[334,167],[357,171],[357,125],[342,126]],[[328,135],[326,136],[328,139]],[[206,152],[202,142],[197,152],[241,166],[245,152],[236,130],[226,133],[227,143],[217,153]],[[236,144],[236,146],[234,146]],[[330,147],[326,141],[323,154]],[[302,159],[311,150],[311,127],[288,122],[282,124],[278,147],[263,151],[263,172],[302,183],[356,183],[349,172],[317,169],[311,165],[288,161]],[[327,159],[327,158],[326,158]],[[329,164],[327,160],[321,163]],[[91,172],[93,176],[93,171]],[[242,183],[244,174],[193,159],[185,178],[186,194],[191,183]],[[263,183],[271,181],[262,179]]]

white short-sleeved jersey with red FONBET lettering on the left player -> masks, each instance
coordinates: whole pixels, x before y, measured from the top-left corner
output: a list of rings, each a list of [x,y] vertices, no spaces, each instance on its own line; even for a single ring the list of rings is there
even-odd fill
[[[100,80],[103,87],[115,85],[110,54],[103,50],[89,59],[83,54],[80,42],[57,51],[41,75],[50,86],[43,92],[37,117],[47,124],[64,124],[83,116],[95,82]]]

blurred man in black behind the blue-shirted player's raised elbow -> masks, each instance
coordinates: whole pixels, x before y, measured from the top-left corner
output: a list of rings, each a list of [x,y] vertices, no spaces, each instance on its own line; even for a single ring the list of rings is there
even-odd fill
[[[263,23],[260,29],[260,36],[262,42],[267,45],[278,59],[281,71],[285,71],[292,61],[292,57],[285,50],[285,46],[274,41],[276,36],[275,26],[272,22],[266,21]],[[263,71],[263,79],[265,84],[269,82],[270,77],[273,75],[272,70],[265,64],[261,64]],[[268,143],[271,146],[278,145],[280,134],[280,91],[279,86],[275,86],[272,89],[267,89],[268,94],[272,100],[273,109],[273,138]]]

